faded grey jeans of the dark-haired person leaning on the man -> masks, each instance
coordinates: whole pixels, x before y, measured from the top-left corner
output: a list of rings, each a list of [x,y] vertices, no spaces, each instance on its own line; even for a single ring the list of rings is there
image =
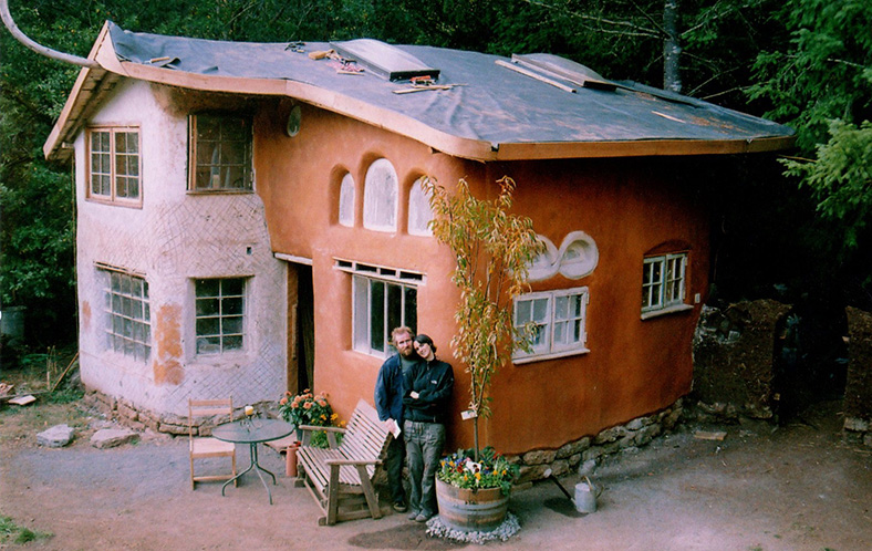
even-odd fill
[[[406,420],[404,426],[412,495],[408,506],[425,517],[436,513],[436,471],[445,444],[445,425]]]

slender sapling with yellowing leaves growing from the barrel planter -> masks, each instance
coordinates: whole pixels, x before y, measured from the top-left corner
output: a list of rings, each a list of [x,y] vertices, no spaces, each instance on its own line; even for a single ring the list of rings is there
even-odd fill
[[[532,220],[510,214],[515,180],[504,176],[497,184],[497,197],[482,200],[473,196],[464,179],[454,194],[433,179],[424,183],[434,215],[433,235],[451,249],[457,261],[451,281],[460,291],[460,301],[451,346],[454,357],[470,376],[476,461],[478,419],[490,415],[491,378],[509,361],[515,346],[529,347],[530,330],[516,331],[512,303],[527,290],[528,267],[542,250]]]

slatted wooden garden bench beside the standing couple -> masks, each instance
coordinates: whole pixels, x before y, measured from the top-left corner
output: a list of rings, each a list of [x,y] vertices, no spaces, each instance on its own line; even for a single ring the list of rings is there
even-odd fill
[[[378,414],[364,401],[357,403],[346,428],[301,426],[326,430],[330,448],[300,446],[297,450],[298,486],[305,486],[321,508],[321,526],[341,520],[381,518],[373,478],[384,460],[393,435]],[[335,434],[341,433],[338,446]],[[305,440],[304,440],[305,441]]]

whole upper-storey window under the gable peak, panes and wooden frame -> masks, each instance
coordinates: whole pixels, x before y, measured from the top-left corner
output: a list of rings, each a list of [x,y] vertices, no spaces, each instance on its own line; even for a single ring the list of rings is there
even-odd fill
[[[142,205],[139,131],[134,127],[89,128],[90,199]]]

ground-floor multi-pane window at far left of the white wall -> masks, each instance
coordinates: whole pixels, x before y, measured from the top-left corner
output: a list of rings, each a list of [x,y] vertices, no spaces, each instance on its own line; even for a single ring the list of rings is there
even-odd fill
[[[146,362],[152,354],[152,313],[148,283],[139,277],[114,270],[105,274],[104,310],[106,347]]]

